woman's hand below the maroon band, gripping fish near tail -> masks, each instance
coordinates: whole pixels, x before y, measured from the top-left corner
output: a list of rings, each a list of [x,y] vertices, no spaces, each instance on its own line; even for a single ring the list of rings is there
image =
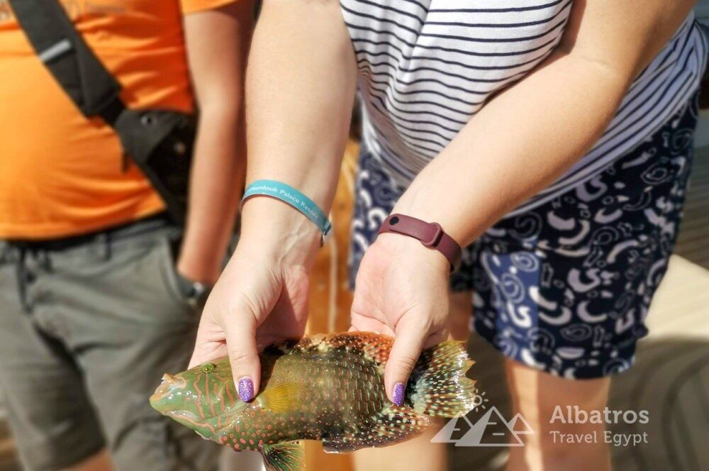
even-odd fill
[[[352,330],[393,336],[384,383],[395,404],[423,348],[448,336],[448,260],[406,235],[379,235],[357,272]]]

